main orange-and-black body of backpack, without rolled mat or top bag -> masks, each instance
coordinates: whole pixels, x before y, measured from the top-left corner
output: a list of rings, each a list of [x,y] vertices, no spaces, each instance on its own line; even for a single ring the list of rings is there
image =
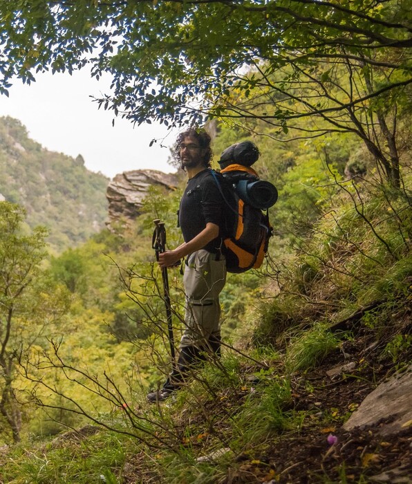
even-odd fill
[[[223,243],[227,272],[239,274],[258,269],[268,252],[273,229],[268,212],[252,205],[245,196],[247,183],[241,182],[256,183],[256,177],[238,176],[232,180],[221,172],[212,171],[212,174],[226,205]]]

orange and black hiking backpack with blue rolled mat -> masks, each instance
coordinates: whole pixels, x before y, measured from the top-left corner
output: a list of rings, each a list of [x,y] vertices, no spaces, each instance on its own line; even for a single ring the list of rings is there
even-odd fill
[[[277,201],[277,189],[260,180],[250,167],[236,162],[226,165],[212,174],[225,201],[223,242],[227,272],[241,273],[260,268],[268,252],[273,232],[268,208]]]

